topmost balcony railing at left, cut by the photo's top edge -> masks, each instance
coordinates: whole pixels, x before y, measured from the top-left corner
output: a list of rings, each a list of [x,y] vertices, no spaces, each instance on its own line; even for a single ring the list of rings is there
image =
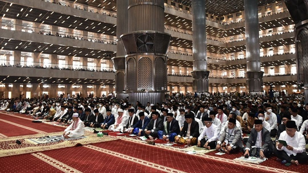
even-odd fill
[[[97,14],[103,14],[103,15],[106,15],[106,16],[111,16],[111,17],[116,18],[116,12],[103,10],[102,8],[97,8],[97,7],[93,7],[93,6],[87,6],[85,4],[79,4],[79,3],[76,3],[76,2],[72,2],[72,1],[59,0],[58,3],[56,3],[54,0],[42,0],[42,1],[51,2],[51,3],[54,3],[54,4],[61,5],[61,6],[72,7],[72,8],[75,8],[75,9],[89,11],[89,12],[97,13]],[[85,7],[87,7],[87,8],[85,8]]]

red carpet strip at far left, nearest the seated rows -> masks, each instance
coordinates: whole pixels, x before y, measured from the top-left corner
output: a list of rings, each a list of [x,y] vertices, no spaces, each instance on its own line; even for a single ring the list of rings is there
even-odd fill
[[[37,130],[41,130],[47,133],[51,133],[51,132],[59,132],[59,131],[63,131],[64,128],[63,127],[59,127],[59,126],[51,126],[49,124],[46,123],[33,123],[31,122],[32,119],[23,119],[23,118],[18,118],[18,117],[13,117],[10,115],[5,115],[0,113],[0,119],[6,120],[6,121],[10,121],[16,124],[20,124],[22,126],[27,126],[30,128],[34,128]]]

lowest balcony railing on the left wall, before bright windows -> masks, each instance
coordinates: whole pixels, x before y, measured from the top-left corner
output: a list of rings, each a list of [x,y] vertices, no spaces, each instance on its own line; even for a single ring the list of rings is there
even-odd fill
[[[18,67],[18,68],[42,68],[42,69],[56,69],[56,70],[73,70],[73,71],[89,71],[89,72],[110,72],[114,73],[113,68],[97,67],[97,66],[74,66],[72,64],[55,64],[42,62],[28,62],[28,61],[10,61],[0,60],[2,67]]]

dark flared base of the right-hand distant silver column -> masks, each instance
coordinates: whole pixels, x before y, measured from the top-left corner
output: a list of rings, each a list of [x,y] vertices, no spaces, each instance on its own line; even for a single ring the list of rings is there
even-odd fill
[[[246,72],[247,91],[248,93],[263,92],[263,73],[262,71]]]

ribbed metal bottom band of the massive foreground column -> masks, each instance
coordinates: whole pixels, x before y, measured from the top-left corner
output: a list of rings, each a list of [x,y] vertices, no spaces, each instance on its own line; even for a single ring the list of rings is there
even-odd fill
[[[148,102],[152,104],[162,103],[165,99],[165,92],[136,92],[128,93],[129,103],[136,103],[140,101],[142,105],[146,105]]]

